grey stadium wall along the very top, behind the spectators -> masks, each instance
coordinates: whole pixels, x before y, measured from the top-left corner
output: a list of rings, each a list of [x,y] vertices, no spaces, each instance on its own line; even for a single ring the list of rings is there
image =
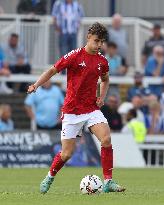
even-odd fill
[[[0,5],[5,13],[16,13],[19,0],[1,0]],[[84,6],[87,17],[107,17],[110,12],[110,0],[79,0]],[[100,3],[101,2],[101,3]],[[50,13],[51,0],[47,0],[47,11]],[[163,0],[115,0],[116,12],[123,16],[163,18]]]

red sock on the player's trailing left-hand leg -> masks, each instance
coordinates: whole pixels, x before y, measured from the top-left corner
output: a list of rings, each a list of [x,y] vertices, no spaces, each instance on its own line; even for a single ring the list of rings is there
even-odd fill
[[[51,176],[55,176],[57,172],[64,166],[65,162],[61,158],[61,152],[54,157],[53,162],[50,167]]]

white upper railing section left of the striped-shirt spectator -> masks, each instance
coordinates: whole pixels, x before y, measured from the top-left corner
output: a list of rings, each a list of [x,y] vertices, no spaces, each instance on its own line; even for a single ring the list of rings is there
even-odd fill
[[[0,15],[0,44],[7,43],[11,33],[18,33],[33,69],[43,70],[49,64],[51,22],[50,16]]]

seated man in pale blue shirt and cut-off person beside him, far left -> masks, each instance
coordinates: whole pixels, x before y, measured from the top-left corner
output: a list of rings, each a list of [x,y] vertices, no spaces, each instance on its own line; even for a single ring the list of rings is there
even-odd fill
[[[19,35],[11,33],[8,42],[0,46],[0,75],[9,76],[10,74],[30,74],[31,65],[29,63],[26,50],[19,39]],[[5,84],[1,82],[0,93],[11,94],[15,92],[26,92],[26,83]]]

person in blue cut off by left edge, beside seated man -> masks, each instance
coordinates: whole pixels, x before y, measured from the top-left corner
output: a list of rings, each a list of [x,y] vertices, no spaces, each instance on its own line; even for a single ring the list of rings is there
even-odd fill
[[[7,64],[5,63],[5,55],[0,47],[0,76],[9,76],[10,70],[8,69]],[[5,82],[0,83],[0,93],[11,94],[13,91],[7,87]]]

